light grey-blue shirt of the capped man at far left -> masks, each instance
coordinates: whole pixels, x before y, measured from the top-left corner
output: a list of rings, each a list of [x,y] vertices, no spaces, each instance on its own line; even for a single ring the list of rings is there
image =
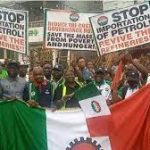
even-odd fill
[[[23,98],[23,92],[26,86],[26,81],[17,77],[12,79],[7,77],[0,80],[0,98],[9,99],[10,97],[16,97],[17,99]]]

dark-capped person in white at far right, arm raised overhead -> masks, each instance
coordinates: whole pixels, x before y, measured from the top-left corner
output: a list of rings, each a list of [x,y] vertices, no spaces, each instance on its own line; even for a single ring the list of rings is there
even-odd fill
[[[147,79],[146,69],[137,59],[132,59],[130,54],[122,55],[121,59],[124,63],[124,76],[117,85],[120,100],[138,91],[145,84],[143,81]]]

